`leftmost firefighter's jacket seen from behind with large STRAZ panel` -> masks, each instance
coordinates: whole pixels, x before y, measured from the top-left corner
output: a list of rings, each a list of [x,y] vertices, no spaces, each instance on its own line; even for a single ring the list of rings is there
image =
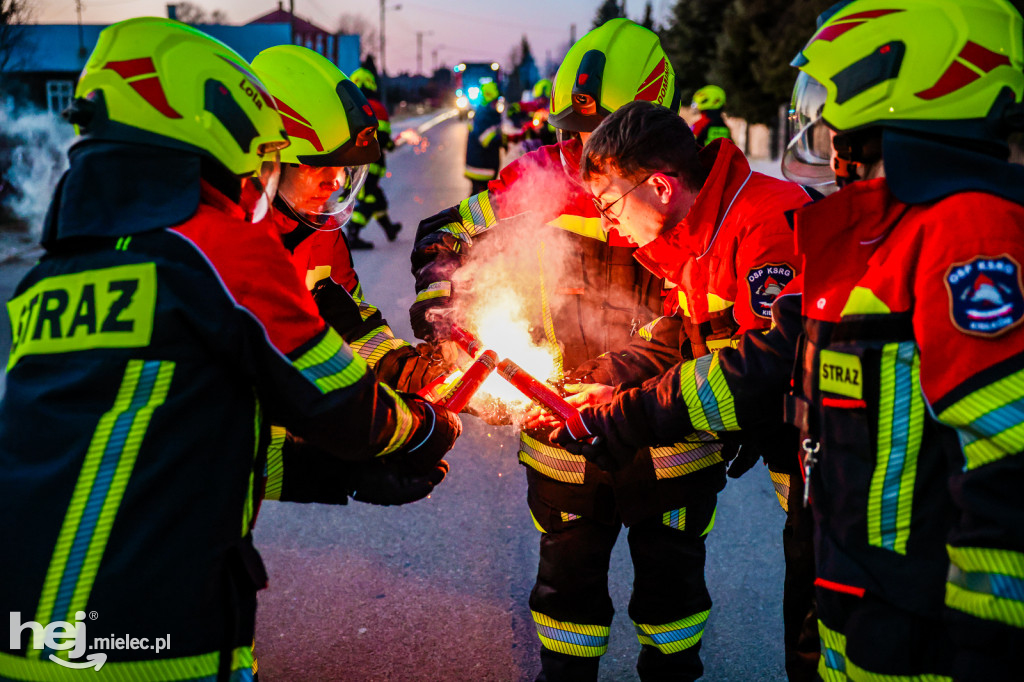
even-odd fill
[[[241,676],[266,578],[250,523],[269,420],[369,459],[419,418],[316,315],[274,228],[201,185],[198,157],[106,147],[72,151],[47,253],[7,307],[0,610],[41,625],[2,638],[0,677],[55,674],[34,634],[53,622],[90,646],[147,638],[109,644],[111,677]],[[172,179],[117,174],[132,163]],[[147,199],[153,213],[131,210]]]

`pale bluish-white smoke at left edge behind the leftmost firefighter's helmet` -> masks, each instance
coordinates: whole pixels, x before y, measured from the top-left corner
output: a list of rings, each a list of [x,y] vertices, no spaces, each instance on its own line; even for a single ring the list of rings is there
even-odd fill
[[[38,239],[75,131],[59,116],[0,105],[0,214]]]

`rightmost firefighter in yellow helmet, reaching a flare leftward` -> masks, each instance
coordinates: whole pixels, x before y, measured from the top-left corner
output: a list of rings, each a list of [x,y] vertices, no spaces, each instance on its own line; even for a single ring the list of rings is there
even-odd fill
[[[600,443],[569,445],[797,426],[826,682],[1024,670],[1022,29],[1007,0],[823,14],[783,169],[841,189],[796,213],[801,286],[771,332],[585,409]]]

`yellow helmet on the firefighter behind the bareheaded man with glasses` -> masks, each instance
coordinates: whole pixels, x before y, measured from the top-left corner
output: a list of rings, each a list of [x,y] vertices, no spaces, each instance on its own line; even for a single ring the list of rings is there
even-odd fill
[[[551,88],[549,120],[562,130],[589,132],[635,99],[677,111],[676,74],[656,34],[614,18],[569,48]]]

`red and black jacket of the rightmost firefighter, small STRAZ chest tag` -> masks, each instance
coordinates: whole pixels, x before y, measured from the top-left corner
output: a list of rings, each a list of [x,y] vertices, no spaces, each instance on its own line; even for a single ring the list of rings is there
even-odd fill
[[[782,417],[795,366],[786,412],[813,465],[819,591],[869,595],[948,624],[952,670],[907,675],[981,680],[1020,671],[1019,170],[1006,166],[1013,181],[999,196],[964,190],[907,205],[878,179],[802,209],[803,274],[776,301],[775,329],[587,416],[626,442],[678,437],[681,422],[716,430],[763,424]],[[800,289],[802,296],[788,295]],[[825,679],[844,667],[894,672],[848,658],[841,625],[820,630],[830,651],[819,669]]]

